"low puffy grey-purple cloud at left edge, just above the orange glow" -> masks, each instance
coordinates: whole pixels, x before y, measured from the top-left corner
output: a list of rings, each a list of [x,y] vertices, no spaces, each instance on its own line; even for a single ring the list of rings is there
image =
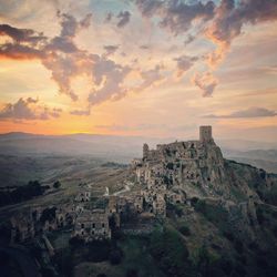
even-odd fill
[[[19,99],[16,103],[7,103],[0,110],[2,120],[50,120],[60,117],[61,109],[50,109],[38,104],[39,100],[28,98]]]

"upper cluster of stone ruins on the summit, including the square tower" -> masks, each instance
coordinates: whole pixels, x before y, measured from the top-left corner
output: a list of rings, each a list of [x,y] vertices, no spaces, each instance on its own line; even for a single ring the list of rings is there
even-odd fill
[[[150,194],[166,195],[170,189],[167,199],[173,202],[181,202],[189,194],[189,187],[199,187],[208,195],[220,193],[226,183],[224,158],[213,140],[212,126],[199,127],[199,140],[158,144],[155,150],[144,144],[143,157],[133,162],[133,168],[136,181]],[[178,196],[174,196],[174,191]]]

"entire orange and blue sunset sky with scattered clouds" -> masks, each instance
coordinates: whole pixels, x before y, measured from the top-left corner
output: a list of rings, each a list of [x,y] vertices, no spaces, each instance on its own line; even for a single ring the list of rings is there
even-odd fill
[[[0,133],[277,138],[276,0],[0,0]]]

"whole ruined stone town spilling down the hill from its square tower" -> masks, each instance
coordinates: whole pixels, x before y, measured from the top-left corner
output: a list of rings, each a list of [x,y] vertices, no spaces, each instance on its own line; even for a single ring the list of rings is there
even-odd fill
[[[81,184],[74,199],[59,207],[33,208],[24,218],[12,217],[12,242],[24,242],[40,232],[72,228],[72,236],[85,242],[110,239],[113,230],[148,234],[155,220],[166,217],[166,205],[191,205],[189,187],[224,182],[224,160],[212,137],[211,126],[199,127],[199,140],[157,145],[143,145],[143,157],[133,160],[125,192],[95,201],[91,187]],[[131,181],[132,179],[132,181]],[[93,201],[92,201],[93,199]]]

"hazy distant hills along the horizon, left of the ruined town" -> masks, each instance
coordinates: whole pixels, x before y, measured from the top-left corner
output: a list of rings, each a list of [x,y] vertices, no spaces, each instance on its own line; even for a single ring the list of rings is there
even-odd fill
[[[4,155],[92,155],[126,163],[140,156],[144,142],[151,145],[165,140],[140,136],[98,134],[37,135],[28,133],[0,134],[0,154]]]

